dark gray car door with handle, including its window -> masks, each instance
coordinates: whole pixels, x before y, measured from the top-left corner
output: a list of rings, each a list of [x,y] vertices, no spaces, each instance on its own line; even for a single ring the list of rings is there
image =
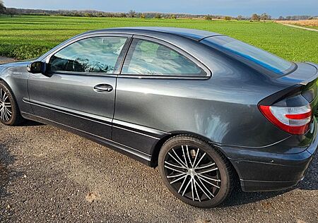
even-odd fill
[[[129,35],[91,36],[47,58],[47,75],[30,74],[35,116],[110,139],[119,64]]]

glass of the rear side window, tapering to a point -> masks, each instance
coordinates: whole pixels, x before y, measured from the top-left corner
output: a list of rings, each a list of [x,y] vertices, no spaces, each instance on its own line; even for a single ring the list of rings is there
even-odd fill
[[[124,74],[162,76],[206,76],[206,72],[186,56],[148,40],[135,39],[126,56]]]

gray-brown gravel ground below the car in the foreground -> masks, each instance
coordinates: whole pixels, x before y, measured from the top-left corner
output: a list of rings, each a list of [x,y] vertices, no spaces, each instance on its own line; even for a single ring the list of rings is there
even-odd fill
[[[318,222],[318,157],[298,187],[236,188],[222,206],[177,200],[158,169],[52,126],[0,124],[0,222]]]

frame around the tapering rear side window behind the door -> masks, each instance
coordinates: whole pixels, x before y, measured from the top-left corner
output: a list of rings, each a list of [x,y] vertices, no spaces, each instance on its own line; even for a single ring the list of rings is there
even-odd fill
[[[148,74],[148,75],[143,75],[143,74],[129,74],[129,73],[122,73],[122,69],[124,67],[124,63],[127,60],[127,55],[129,50],[131,49],[131,43],[134,40],[146,40],[149,42],[154,42],[155,44],[160,44],[163,45],[169,49],[174,50],[175,52],[177,52],[178,54],[181,54],[182,56],[186,57],[187,59],[189,59],[189,61],[192,61],[192,63],[196,64],[196,66],[199,66],[199,68],[202,69],[202,71],[204,71],[206,73],[206,76],[182,76],[182,75],[160,75],[160,74]],[[201,63],[201,61],[199,61],[198,59],[196,59],[194,56],[192,56],[191,54],[185,52],[184,50],[180,49],[179,47],[177,47],[175,44],[170,44],[169,42],[166,42],[164,40],[160,40],[158,38],[155,37],[148,37],[148,36],[143,36],[143,35],[133,35],[131,37],[131,40],[129,42],[129,47],[126,50],[126,54],[124,55],[124,60],[122,61],[122,66],[120,67],[120,72],[118,77],[119,78],[160,78],[160,79],[199,79],[199,80],[206,80],[211,78],[212,73],[211,71],[204,65]]]

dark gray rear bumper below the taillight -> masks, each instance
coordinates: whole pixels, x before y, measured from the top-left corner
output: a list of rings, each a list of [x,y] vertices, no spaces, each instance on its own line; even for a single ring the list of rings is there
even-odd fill
[[[295,186],[305,176],[317,150],[317,121],[311,144],[302,152],[279,154],[248,148],[220,147],[240,176],[243,191],[276,191]],[[277,145],[273,149],[276,149]]]

